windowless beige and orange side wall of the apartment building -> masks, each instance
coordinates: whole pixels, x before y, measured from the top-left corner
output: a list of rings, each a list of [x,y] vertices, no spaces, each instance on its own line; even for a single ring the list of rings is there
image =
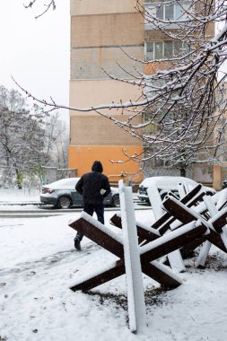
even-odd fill
[[[136,67],[143,71],[127,56],[144,59],[144,19],[135,10],[135,3],[71,0],[71,107],[135,101],[141,96],[139,87],[109,78],[112,74],[127,80]],[[103,112],[126,121],[130,116],[121,110]],[[141,120],[138,118],[137,123]],[[122,178],[140,182],[143,173],[138,173],[139,164],[124,161],[126,154],[142,152],[141,142],[109,118],[96,112],[71,110],[69,168],[75,168],[77,176],[90,171],[94,160],[100,160],[111,182]]]

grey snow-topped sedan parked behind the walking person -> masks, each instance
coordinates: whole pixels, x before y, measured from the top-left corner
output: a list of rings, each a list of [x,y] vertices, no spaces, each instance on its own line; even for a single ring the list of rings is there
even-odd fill
[[[41,188],[40,202],[53,205],[57,208],[68,208],[70,206],[83,206],[83,197],[75,190],[75,184],[80,178],[60,179]],[[104,198],[104,205],[118,207],[118,188],[111,187],[111,193]]]

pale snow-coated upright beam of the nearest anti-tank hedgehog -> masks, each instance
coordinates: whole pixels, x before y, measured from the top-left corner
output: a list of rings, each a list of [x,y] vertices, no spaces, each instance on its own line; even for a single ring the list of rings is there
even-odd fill
[[[125,187],[123,180],[119,180],[119,196],[127,275],[129,328],[134,333],[140,333],[146,328],[144,285],[136,232],[133,192],[131,187]]]

